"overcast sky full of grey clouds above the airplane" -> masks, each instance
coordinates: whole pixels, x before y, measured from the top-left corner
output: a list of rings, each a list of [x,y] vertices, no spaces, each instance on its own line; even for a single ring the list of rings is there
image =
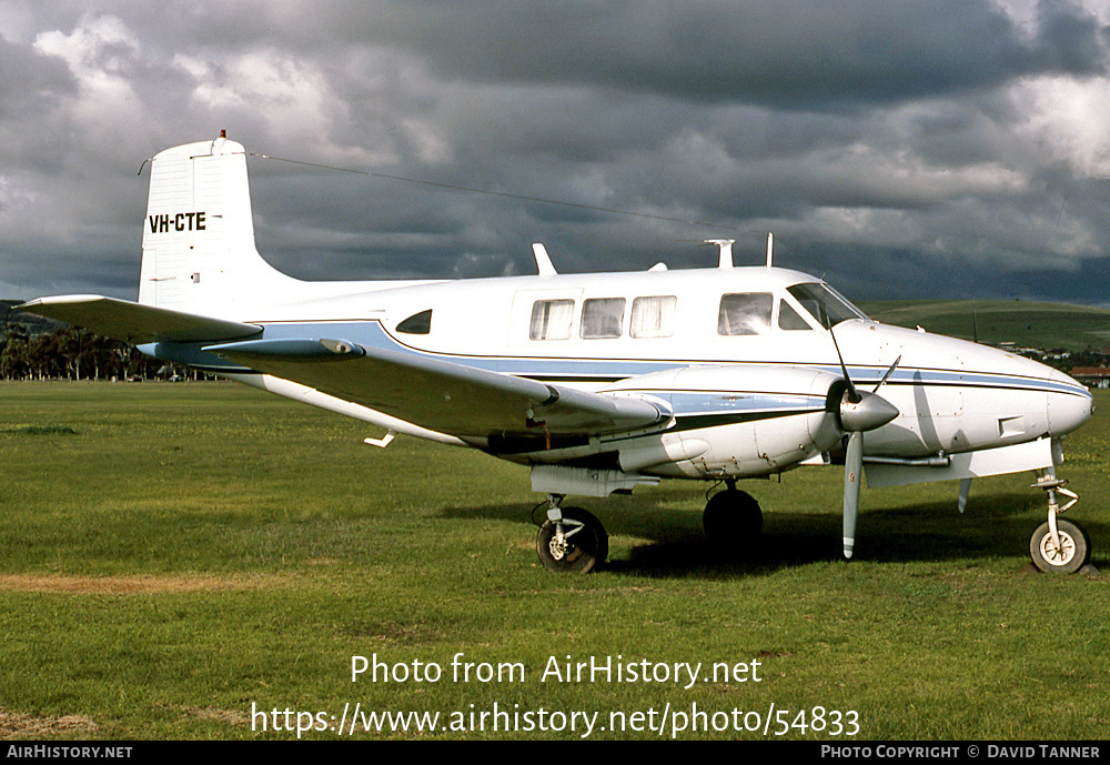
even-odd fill
[[[0,0],[0,298],[133,300],[143,161],[221,130],[361,171],[250,159],[300,279],[769,231],[854,300],[1110,305],[1110,0]]]

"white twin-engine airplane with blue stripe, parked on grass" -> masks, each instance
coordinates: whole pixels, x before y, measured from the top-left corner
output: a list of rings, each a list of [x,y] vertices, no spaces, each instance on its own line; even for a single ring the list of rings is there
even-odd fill
[[[1090,419],[1090,393],[1028,359],[868,320],[821,280],[768,264],[536,276],[303,282],[259,255],[246,153],[224,137],[152,160],[139,302],[98,295],[21,310],[128,341],[385,429],[529,465],[547,494],[536,550],[586,572],[608,542],[566,495],[660,479],[723,482],[710,538],[750,544],[759,505],[736,481],[842,455],[850,557],[864,465],[870,485],[1033,471],[1048,521],[1042,571],[1090,556],[1057,514],[1076,495],[1054,466]],[[842,352],[842,355],[841,355]],[[1063,506],[1057,497],[1062,495]]]

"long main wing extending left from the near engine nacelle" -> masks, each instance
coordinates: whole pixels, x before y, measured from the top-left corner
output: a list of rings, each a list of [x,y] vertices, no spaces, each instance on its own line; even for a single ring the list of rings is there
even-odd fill
[[[662,404],[643,399],[587,393],[344,340],[258,340],[203,350],[463,439],[531,436],[542,443],[552,436],[650,427],[670,419]]]

